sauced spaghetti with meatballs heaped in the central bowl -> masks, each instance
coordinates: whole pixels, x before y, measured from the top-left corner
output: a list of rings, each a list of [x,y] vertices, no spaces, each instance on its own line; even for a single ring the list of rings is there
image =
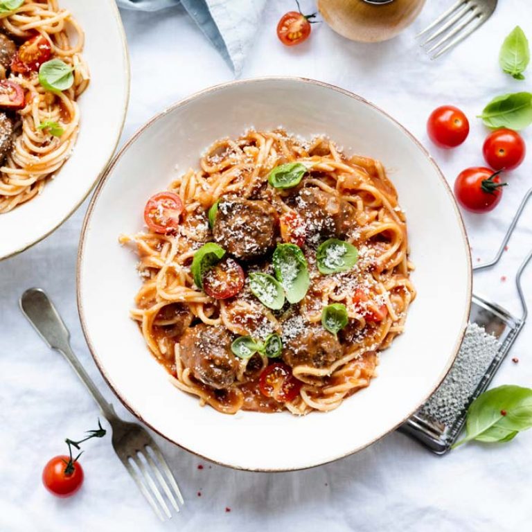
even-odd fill
[[[347,157],[324,137],[250,130],[214,143],[200,166],[170,184],[166,203],[150,199],[151,229],[120,239],[140,257],[132,318],[145,342],[177,388],[224,413],[335,409],[369,386],[416,295],[405,214],[382,164]],[[300,181],[272,186],[278,168],[301,168]],[[208,242],[227,252],[226,262],[198,281],[191,263]],[[308,284],[296,303],[281,294],[279,306],[279,293],[261,297],[253,283],[260,274],[277,286],[269,274],[282,242],[301,250]],[[332,242],[334,260],[334,245],[356,247],[357,260],[324,273],[323,242]],[[329,305],[346,313],[338,330],[323,321]],[[264,348],[272,336],[281,342],[276,353]],[[245,344],[240,351],[235,339]]]

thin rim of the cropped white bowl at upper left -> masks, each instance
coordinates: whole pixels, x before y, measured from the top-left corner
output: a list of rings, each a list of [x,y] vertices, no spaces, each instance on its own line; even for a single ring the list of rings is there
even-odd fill
[[[122,132],[124,130],[125,117],[127,116],[127,108],[130,105],[131,65],[130,65],[130,52],[129,52],[129,49],[127,48],[127,39],[125,37],[124,25],[122,23],[120,12],[118,11],[118,6],[114,0],[105,0],[105,1],[107,1],[107,3],[109,3],[109,5],[111,6],[114,18],[116,20],[116,25],[118,26],[118,33],[120,33],[120,37],[121,37],[120,40],[122,43],[122,53],[125,57],[125,72],[124,72],[125,78],[126,78],[125,103],[124,103],[124,109],[123,109],[123,114],[122,114],[122,121],[120,124],[120,128],[118,130],[118,133],[116,134],[116,140],[114,141],[113,150],[111,154],[109,155],[109,157],[107,157],[107,160],[103,164],[102,169],[98,172],[98,175],[96,175],[96,177],[94,178],[94,181],[91,181],[91,185],[89,186],[89,188],[85,190],[80,200],[76,204],[73,205],[71,211],[69,211],[67,215],[57,225],[52,227],[52,229],[50,229],[49,231],[46,231],[44,235],[39,236],[39,238],[37,238],[36,240],[27,242],[26,244],[22,245],[22,247],[19,247],[18,249],[15,249],[15,251],[12,251],[10,254],[0,257],[0,262],[2,260],[5,260],[6,258],[14,257],[15,255],[18,255],[19,253],[22,253],[22,251],[26,251],[26,249],[30,249],[30,247],[35,246],[35,244],[38,244],[39,242],[41,242],[42,240],[50,236],[54,231],[59,229],[62,226],[62,224],[64,224],[64,222],[66,222],[71,217],[71,215],[73,215],[73,213],[75,213],[80,208],[80,205],[83,202],[85,202],[85,199],[87,199],[87,197],[89,196],[91,191],[94,189],[96,184],[98,184],[100,179],[104,175],[107,175],[107,172],[106,172],[107,166],[109,166],[109,163],[114,158],[116,147],[118,146],[118,143],[120,142],[120,137],[122,136]],[[76,145],[74,145],[74,150],[76,150]]]

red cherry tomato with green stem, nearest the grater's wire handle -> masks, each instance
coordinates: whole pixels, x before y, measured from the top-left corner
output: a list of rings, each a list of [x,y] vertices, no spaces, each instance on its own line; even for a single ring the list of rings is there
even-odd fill
[[[459,204],[472,213],[486,213],[495,209],[502,198],[500,170],[476,166],[466,168],[454,181],[454,195]]]

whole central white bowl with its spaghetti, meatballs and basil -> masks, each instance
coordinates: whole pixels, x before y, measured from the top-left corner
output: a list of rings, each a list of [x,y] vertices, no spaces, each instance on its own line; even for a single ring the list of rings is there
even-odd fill
[[[429,154],[363,98],[300,78],[154,117],[98,186],[78,256],[82,326],[118,397],[247,470],[319,465],[398,427],[450,369],[470,296]]]

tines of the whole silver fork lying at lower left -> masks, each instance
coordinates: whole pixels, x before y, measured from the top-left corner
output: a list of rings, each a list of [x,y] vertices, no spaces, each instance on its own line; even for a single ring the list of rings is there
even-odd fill
[[[163,494],[175,511],[179,512],[178,502],[181,505],[185,504],[184,499],[157,445],[145,445],[143,449],[129,455],[118,454],[118,456],[161,521],[165,520],[165,515],[168,519],[172,517]],[[163,493],[158,486],[162,488]]]

